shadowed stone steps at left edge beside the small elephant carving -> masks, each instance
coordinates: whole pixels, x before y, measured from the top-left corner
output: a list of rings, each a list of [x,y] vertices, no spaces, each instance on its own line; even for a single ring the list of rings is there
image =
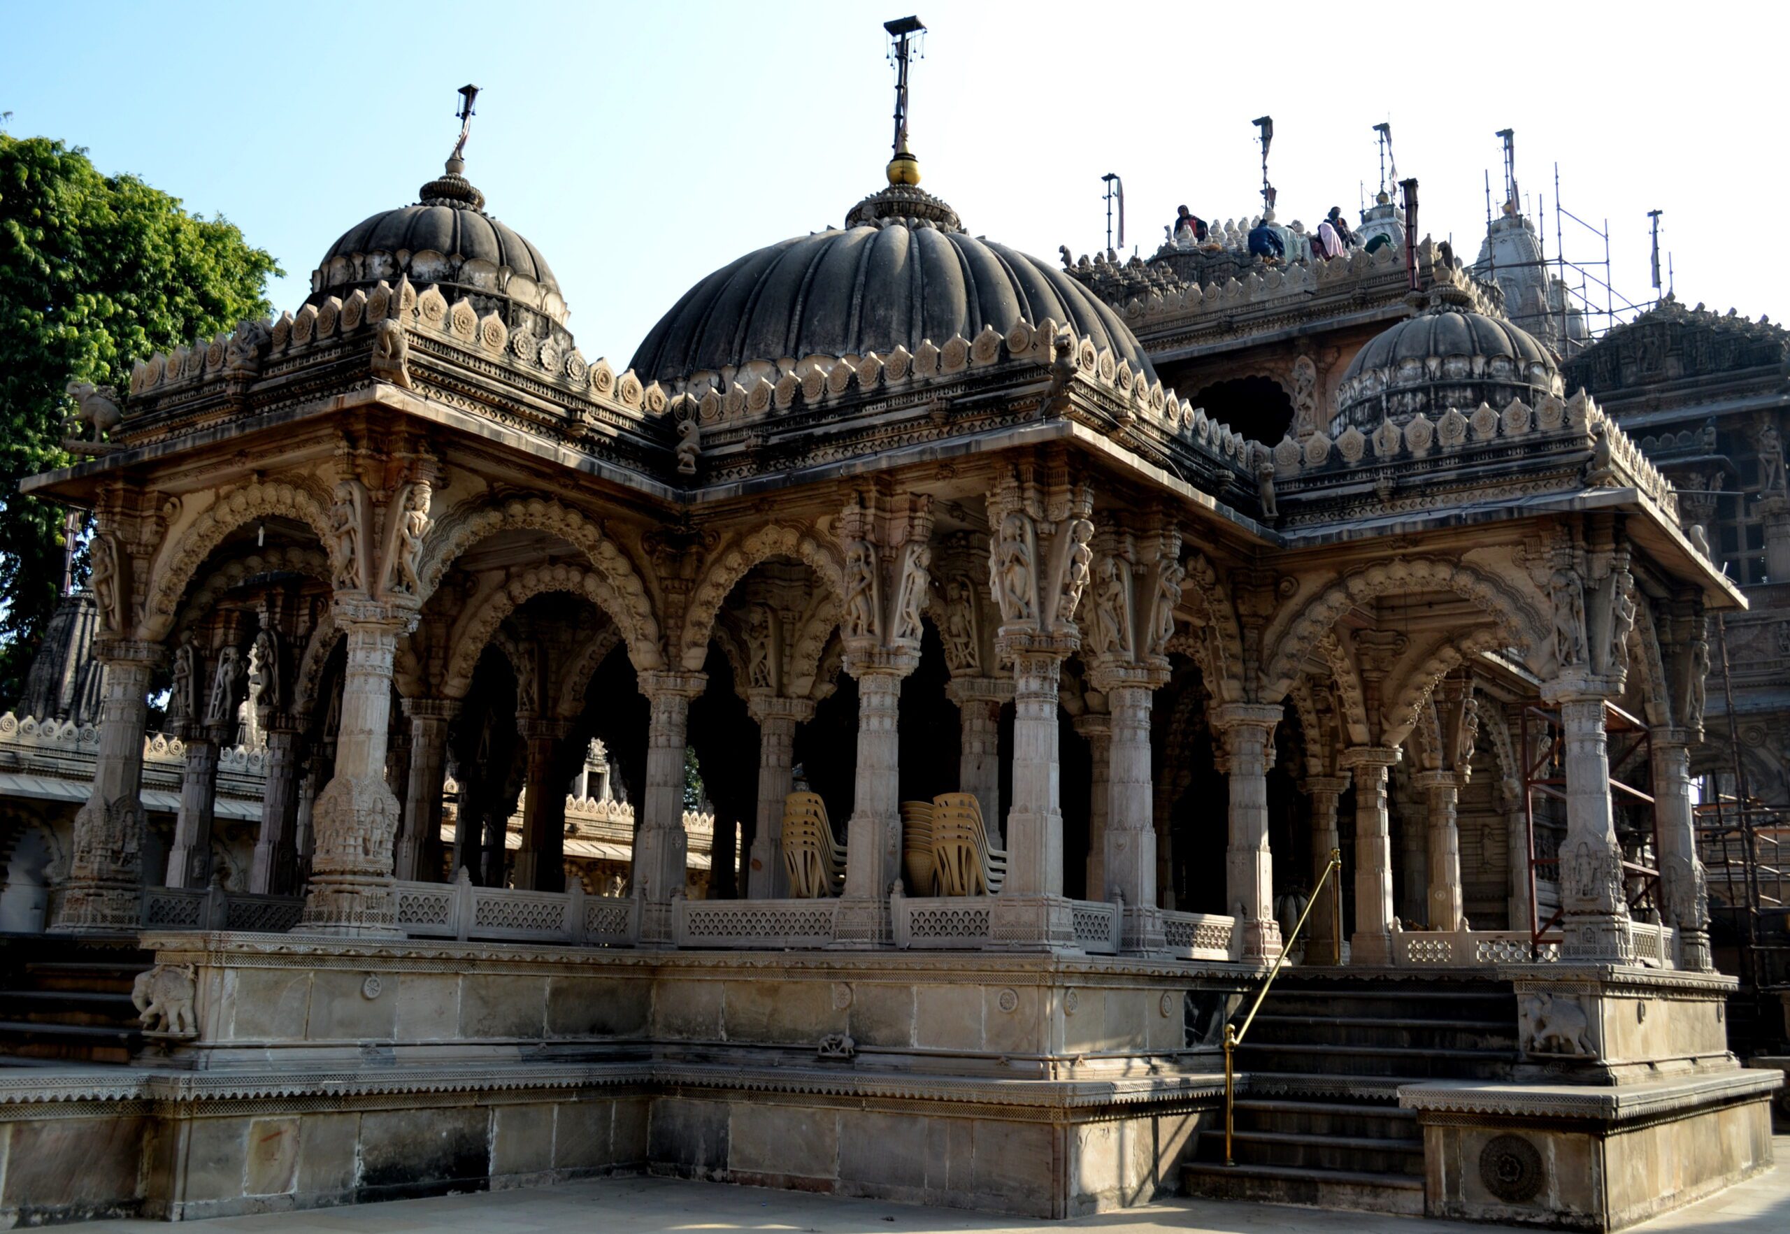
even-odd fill
[[[134,937],[0,935],[0,1064],[129,1062],[131,985],[152,964]]]

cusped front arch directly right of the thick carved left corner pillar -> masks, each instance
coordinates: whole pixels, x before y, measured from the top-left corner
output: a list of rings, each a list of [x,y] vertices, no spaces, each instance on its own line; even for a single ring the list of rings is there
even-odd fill
[[[610,539],[601,523],[562,501],[510,498],[476,509],[456,507],[430,532],[417,577],[421,600],[428,600],[458,557],[478,541],[499,532],[533,530],[558,536],[578,546],[591,562],[580,591],[616,621],[628,645],[628,659],[641,672],[664,666],[659,618],[634,561]]]

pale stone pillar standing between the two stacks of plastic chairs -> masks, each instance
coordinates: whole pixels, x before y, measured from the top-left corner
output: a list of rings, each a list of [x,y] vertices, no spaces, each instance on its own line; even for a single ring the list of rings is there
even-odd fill
[[[893,938],[888,897],[900,872],[900,682],[918,656],[875,654],[875,661],[847,661],[847,672],[857,679],[857,779],[845,826],[841,946],[881,946]]]

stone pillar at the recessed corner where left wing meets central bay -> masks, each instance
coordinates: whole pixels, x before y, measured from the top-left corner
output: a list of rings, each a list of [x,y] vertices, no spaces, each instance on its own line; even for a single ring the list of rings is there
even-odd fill
[[[641,673],[652,706],[646,731],[646,792],[634,835],[634,894],[646,903],[641,942],[671,942],[671,901],[684,894],[689,836],[684,835],[684,750],[689,700],[707,684],[703,673]]]

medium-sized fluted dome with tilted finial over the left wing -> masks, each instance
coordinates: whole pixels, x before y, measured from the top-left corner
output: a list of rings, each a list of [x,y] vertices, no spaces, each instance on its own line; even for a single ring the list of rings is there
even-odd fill
[[[381,210],[344,231],[311,274],[311,299],[408,276],[417,287],[440,287],[449,303],[464,294],[489,312],[510,301],[564,326],[566,297],[541,249],[487,215],[485,195],[455,163],[419,190],[417,204]]]

